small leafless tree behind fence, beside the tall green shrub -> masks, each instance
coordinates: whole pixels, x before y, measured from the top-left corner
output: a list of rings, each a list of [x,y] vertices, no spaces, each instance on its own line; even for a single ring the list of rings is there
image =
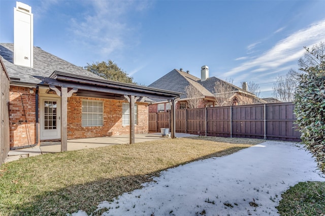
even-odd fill
[[[272,95],[279,101],[291,102],[294,101],[296,87],[297,80],[293,79],[291,75],[279,75],[272,87]]]

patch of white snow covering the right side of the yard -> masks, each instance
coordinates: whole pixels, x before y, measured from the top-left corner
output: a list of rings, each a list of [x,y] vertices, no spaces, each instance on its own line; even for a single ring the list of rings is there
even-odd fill
[[[325,181],[311,154],[297,145],[267,141],[228,156],[180,165],[162,171],[142,189],[113,202],[103,200],[97,207],[106,208],[105,216],[279,215],[275,207],[290,186]],[[71,215],[88,216],[82,209]]]

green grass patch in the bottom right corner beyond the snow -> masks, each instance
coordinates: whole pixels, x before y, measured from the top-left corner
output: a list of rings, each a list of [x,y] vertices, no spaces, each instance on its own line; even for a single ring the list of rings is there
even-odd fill
[[[277,209],[282,216],[323,215],[325,182],[300,182],[282,194]]]

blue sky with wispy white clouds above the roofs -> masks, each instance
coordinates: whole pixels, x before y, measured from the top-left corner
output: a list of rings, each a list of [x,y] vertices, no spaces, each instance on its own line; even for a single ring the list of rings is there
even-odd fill
[[[325,1],[21,1],[34,46],[78,66],[113,60],[148,85],[174,68],[254,81],[270,97],[304,46],[325,41]],[[0,1],[0,42],[13,42],[16,1]]]

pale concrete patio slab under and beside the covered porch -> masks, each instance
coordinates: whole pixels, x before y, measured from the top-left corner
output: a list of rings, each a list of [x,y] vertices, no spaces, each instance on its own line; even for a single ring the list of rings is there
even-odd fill
[[[136,134],[135,136],[136,136],[135,138],[136,143],[152,141],[152,140],[171,139],[171,138],[166,138],[161,136],[161,133]],[[177,138],[191,137],[191,136],[197,136],[197,135],[176,133]],[[129,143],[128,135],[68,140],[68,151],[98,148],[103,146],[128,144],[128,143]],[[61,151],[61,142],[41,142],[40,146],[36,146],[33,148],[16,149],[16,150],[9,151],[8,157],[6,158],[5,162],[18,160],[19,158],[37,156],[40,154],[57,153],[60,151]]]

